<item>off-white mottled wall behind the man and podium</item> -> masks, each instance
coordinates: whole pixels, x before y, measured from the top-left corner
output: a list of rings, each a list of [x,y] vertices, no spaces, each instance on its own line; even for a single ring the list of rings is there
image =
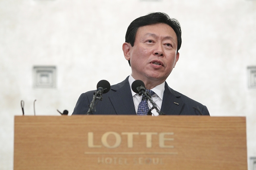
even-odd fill
[[[131,73],[122,43],[128,25],[149,12],[180,21],[180,59],[169,85],[212,116],[247,117],[248,159],[256,156],[255,0],[0,0],[0,170],[13,169],[14,115],[71,115],[81,93]],[[54,65],[57,86],[33,88],[32,68]]]

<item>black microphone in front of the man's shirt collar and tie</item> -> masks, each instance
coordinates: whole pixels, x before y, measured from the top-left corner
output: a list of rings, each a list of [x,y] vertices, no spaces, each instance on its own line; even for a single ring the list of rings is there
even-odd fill
[[[152,108],[149,109],[149,111],[147,112],[147,115],[152,115],[151,110],[152,109],[156,109],[156,112],[158,112],[159,115],[165,115],[164,113],[162,113],[158,108],[156,103],[152,100],[152,97],[150,96],[150,94],[146,91],[145,88],[145,84],[144,82],[142,82],[141,80],[135,80],[132,84],[131,84],[131,89],[132,91],[134,91],[135,93],[138,93],[139,95],[144,94],[145,97],[147,97],[147,100],[150,101],[150,103],[152,104]]]

